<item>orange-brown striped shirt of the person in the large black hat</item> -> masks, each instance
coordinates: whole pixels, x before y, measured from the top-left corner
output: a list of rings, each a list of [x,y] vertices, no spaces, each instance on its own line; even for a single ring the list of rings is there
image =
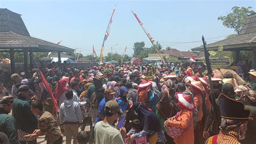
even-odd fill
[[[217,138],[217,141],[216,141]],[[214,140],[215,139],[215,140]],[[228,130],[220,130],[218,135],[211,136],[205,143],[206,144],[239,144],[238,133]]]

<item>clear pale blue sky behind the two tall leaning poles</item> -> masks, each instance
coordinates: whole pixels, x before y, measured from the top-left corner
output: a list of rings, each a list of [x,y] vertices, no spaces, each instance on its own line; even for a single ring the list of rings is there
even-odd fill
[[[171,46],[187,51],[200,46],[198,43],[177,44],[201,40],[207,43],[224,39],[234,32],[227,29],[218,16],[227,15],[233,6],[251,6],[255,1],[76,1],[76,0],[6,0],[0,1],[1,8],[20,13],[31,36],[78,49],[84,55],[92,53],[92,45],[99,55],[104,33],[114,4],[110,37],[105,43],[104,54],[113,52],[133,53],[134,42],[150,40],[145,35],[131,10],[137,13],[147,31],[164,48]],[[164,43],[171,42],[171,43]],[[82,47],[82,49],[80,49]]]

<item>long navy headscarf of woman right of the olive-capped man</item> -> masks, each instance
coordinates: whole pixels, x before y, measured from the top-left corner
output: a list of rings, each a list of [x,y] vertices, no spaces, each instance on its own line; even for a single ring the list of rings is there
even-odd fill
[[[142,122],[143,130],[147,132],[147,135],[150,135],[152,131],[160,131],[160,122],[156,114],[151,112],[140,102],[134,102],[132,108],[138,113],[138,118]]]

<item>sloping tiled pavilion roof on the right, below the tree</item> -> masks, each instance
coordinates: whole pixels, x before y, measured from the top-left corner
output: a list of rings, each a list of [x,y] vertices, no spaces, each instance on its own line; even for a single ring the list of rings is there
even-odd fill
[[[239,35],[207,44],[207,50],[218,50],[223,45],[224,50],[251,50],[256,46],[256,13],[248,16]],[[195,47],[192,51],[204,51],[203,46]]]

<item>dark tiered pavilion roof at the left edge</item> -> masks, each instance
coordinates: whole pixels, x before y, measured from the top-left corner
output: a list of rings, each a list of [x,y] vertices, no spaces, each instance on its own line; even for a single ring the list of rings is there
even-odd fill
[[[32,49],[33,52],[73,52],[74,50],[31,37],[21,15],[8,9],[0,9],[0,51]]]

